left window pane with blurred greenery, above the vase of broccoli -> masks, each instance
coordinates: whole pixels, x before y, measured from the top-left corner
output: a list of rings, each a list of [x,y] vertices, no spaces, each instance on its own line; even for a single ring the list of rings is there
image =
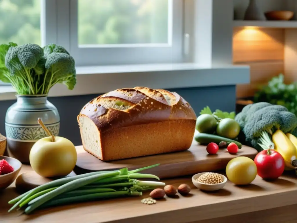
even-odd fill
[[[0,0],[0,43],[41,41],[40,0]]]

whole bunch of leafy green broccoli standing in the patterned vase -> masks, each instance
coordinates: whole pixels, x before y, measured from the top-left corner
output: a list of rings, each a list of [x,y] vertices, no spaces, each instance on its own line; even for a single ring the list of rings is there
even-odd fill
[[[20,95],[48,94],[55,84],[72,90],[76,84],[75,61],[55,44],[0,45],[0,80],[11,83]]]

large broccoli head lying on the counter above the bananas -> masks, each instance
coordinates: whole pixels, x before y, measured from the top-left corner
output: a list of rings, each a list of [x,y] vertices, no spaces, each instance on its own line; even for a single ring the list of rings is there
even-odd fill
[[[297,117],[284,106],[272,105],[267,102],[250,104],[235,117],[241,127],[238,139],[247,145],[263,150],[268,145],[267,134],[273,134],[277,129],[284,133],[293,132],[297,127]],[[264,138],[264,143],[263,143]],[[261,139],[261,140],[260,140]],[[259,145],[260,144],[260,145]]]

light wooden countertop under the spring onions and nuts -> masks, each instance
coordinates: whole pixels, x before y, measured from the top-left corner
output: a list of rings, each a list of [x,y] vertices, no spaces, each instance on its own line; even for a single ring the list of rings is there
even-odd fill
[[[31,167],[23,165],[20,173],[26,171],[31,171]],[[252,184],[243,187],[234,186],[228,181],[224,189],[211,193],[195,188],[191,176],[164,182],[176,187],[181,183],[187,183],[192,187],[192,191],[187,197],[179,195],[176,198],[164,198],[154,205],[144,205],[140,202],[142,198],[149,197],[146,193],[143,197],[59,206],[31,215],[20,212],[7,213],[10,208],[7,201],[18,195],[13,183],[0,192],[0,222],[222,223],[237,222],[239,218],[241,222],[296,222],[297,177],[293,173],[282,176],[275,182],[266,182],[257,176]]]

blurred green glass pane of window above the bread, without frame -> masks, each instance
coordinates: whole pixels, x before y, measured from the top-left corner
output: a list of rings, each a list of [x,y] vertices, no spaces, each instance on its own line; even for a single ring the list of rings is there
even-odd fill
[[[172,1],[78,0],[78,45],[171,45],[169,4]]]

